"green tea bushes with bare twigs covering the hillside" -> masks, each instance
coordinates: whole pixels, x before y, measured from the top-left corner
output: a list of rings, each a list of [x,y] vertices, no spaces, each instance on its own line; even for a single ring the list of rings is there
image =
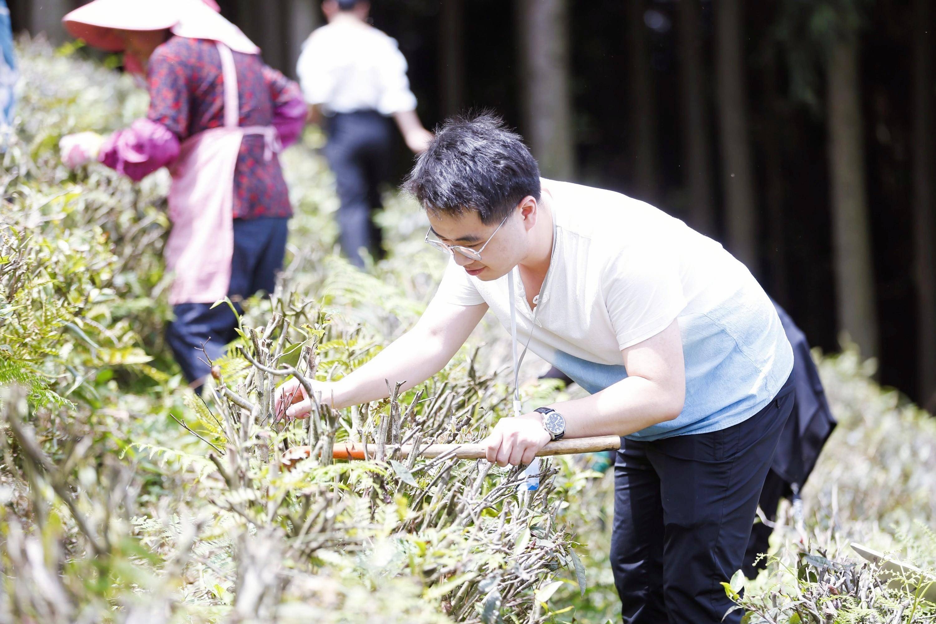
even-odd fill
[[[307,131],[282,156],[297,209],[283,281],[247,302],[199,399],[162,340],[165,172],[134,184],[58,162],[61,136],[128,123],[145,94],[80,51],[20,51],[28,88],[0,154],[0,620],[617,621],[613,470],[560,457],[528,493],[517,471],[388,446],[476,440],[505,414],[496,322],[392,399],[271,417],[287,371],[339,378],[422,312],[445,257],[423,252],[417,207],[388,194],[392,253],[349,266],[334,254],[322,138]],[[768,569],[726,591],[748,622],[933,621],[919,579],[885,585],[848,544],[936,559],[936,424],[854,351],[815,356],[841,425],[803,513],[782,507]],[[524,387],[529,407],[563,392]],[[333,461],[346,441],[373,456]],[[297,444],[313,457],[285,470]]]

